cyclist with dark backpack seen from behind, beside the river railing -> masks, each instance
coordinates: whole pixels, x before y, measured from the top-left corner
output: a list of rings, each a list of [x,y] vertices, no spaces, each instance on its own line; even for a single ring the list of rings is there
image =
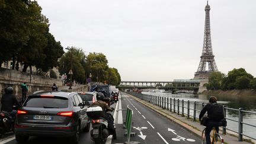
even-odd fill
[[[222,108],[217,104],[217,98],[212,96],[209,99],[209,104],[207,104],[203,110],[201,110],[201,113],[199,115],[199,120],[204,116],[204,114],[207,111],[207,116],[209,117],[209,120],[206,124],[206,143],[210,144],[210,132],[212,131],[213,127],[215,127],[216,132],[219,133],[219,126],[221,125],[221,120],[224,119],[223,110]]]

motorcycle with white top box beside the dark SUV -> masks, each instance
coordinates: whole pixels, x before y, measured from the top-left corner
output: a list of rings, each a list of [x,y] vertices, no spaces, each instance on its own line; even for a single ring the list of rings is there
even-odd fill
[[[101,117],[103,110],[100,106],[91,106],[87,109],[87,116],[91,119],[92,130],[91,139],[96,144],[104,143],[108,136],[113,135],[113,139],[116,139],[116,127],[108,124],[108,121]],[[113,116],[108,113],[110,119],[114,121]]]

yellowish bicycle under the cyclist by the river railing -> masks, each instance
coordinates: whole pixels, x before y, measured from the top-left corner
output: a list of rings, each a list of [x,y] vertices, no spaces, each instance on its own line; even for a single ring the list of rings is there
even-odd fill
[[[201,134],[201,144],[206,144],[205,131],[206,131],[206,126],[204,126],[203,132]],[[215,127],[213,127],[213,132],[212,132],[212,143],[213,144],[223,144],[224,143],[224,139],[222,138],[222,136],[220,136],[219,133],[216,132]]]

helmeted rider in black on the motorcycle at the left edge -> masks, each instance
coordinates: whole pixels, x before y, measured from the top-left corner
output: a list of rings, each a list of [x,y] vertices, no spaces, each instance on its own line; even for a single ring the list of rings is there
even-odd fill
[[[13,95],[14,89],[12,87],[5,88],[5,94],[2,95],[1,99],[1,111],[7,111],[13,118],[15,118],[17,111],[13,110],[13,105],[18,105],[21,107],[20,103],[18,103],[15,95]]]

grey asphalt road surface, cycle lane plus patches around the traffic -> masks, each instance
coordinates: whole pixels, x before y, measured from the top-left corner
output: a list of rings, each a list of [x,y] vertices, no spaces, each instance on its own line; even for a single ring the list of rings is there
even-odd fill
[[[200,143],[200,138],[194,136],[183,127],[178,126],[172,121],[166,119],[155,111],[148,107],[138,103],[133,98],[129,97],[127,94],[121,93],[121,107],[116,107],[116,127],[117,127],[117,139],[107,141],[106,144],[110,143],[124,143],[127,141],[127,137],[124,136],[126,132],[123,129],[122,121],[125,121],[127,105],[133,110],[133,129],[132,132],[136,133],[136,136],[130,138],[130,141],[139,143]],[[115,106],[115,105],[114,105]],[[119,105],[117,105],[119,106]],[[121,112],[121,113],[119,113]],[[120,119],[122,115],[123,120]],[[119,123],[119,124],[118,124]],[[3,139],[6,139],[3,141]],[[2,141],[1,141],[2,140]],[[0,138],[0,143],[5,144],[15,144],[17,143],[14,135],[11,133],[5,137]],[[27,142],[28,144],[56,144],[56,143],[69,143],[68,138],[56,138],[56,137],[30,137]],[[81,133],[79,144],[94,143],[89,135],[89,132]]]

